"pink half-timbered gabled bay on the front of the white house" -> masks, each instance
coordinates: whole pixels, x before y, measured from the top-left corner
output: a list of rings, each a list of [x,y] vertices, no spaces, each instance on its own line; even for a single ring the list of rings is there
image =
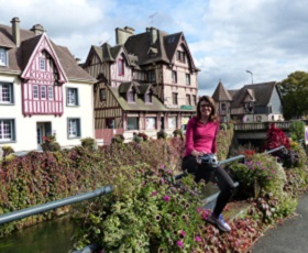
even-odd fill
[[[43,35],[22,75],[23,114],[62,116],[64,82],[66,78]]]

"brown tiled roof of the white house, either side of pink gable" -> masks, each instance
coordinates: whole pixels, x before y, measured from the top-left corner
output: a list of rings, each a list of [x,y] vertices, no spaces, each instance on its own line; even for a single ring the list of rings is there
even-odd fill
[[[0,66],[0,72],[23,72],[33,51],[40,42],[41,36],[42,34],[36,35],[32,31],[20,29],[21,44],[20,47],[16,47],[12,37],[12,28],[0,24],[0,46],[9,48],[9,66]],[[68,79],[86,80],[91,82],[96,80],[78,66],[67,47],[58,46],[53,42],[52,46],[56,52],[59,63]]]

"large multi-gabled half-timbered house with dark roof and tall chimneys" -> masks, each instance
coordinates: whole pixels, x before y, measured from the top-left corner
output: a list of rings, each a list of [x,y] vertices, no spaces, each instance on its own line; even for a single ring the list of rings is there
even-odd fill
[[[133,132],[172,133],[195,114],[198,68],[184,34],[155,28],[116,29],[117,45],[91,46],[84,69],[95,86],[96,138]]]

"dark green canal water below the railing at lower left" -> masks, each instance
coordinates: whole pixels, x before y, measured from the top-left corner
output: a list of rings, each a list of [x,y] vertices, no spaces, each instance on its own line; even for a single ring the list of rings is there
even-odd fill
[[[73,230],[67,217],[43,222],[0,239],[0,253],[67,253]]]

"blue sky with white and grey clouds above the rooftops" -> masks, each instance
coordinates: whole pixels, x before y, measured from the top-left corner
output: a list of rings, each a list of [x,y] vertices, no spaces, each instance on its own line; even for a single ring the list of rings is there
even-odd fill
[[[0,0],[0,23],[42,24],[56,44],[85,61],[91,45],[116,45],[116,28],[183,32],[199,95],[282,81],[308,68],[308,0]],[[250,73],[248,73],[248,70]]]

